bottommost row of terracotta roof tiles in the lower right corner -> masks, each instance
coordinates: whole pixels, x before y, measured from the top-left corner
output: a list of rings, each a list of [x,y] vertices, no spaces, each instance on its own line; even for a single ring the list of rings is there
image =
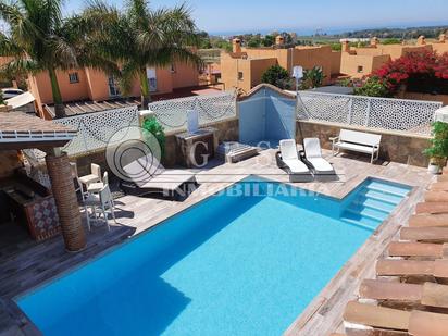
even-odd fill
[[[344,312],[348,336],[446,336],[448,315],[351,301]]]

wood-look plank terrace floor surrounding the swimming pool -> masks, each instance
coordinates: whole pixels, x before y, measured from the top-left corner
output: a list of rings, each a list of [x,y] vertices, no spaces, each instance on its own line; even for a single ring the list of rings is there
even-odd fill
[[[174,202],[161,199],[125,196],[116,200],[117,225],[110,232],[104,226],[94,227],[88,234],[87,248],[78,253],[64,251],[61,237],[36,244],[20,232],[0,231],[0,335],[9,332],[34,331],[24,322],[11,299],[32,289],[53,276],[67,271],[80,262],[88,261],[105,249],[148,229],[161,221],[191,207],[210,195],[240,181],[248,175],[289,183],[287,175],[276,167],[274,150],[237,164],[219,164],[198,173],[200,184],[185,201]],[[370,164],[368,158],[345,155],[327,159],[334,164],[339,181],[331,183],[294,184],[301,188],[343,198],[366,177],[379,177],[414,186],[391,216],[368,239],[323,291],[314,298],[291,326],[287,335],[328,335],[340,329],[346,302],[356,297],[362,278],[374,275],[374,262],[384,253],[388,241],[398,233],[402,223],[412,214],[413,206],[423,198],[423,190],[433,176],[426,169],[391,162]],[[2,311],[3,306],[3,311]],[[7,332],[5,332],[7,331]],[[311,332],[312,331],[312,332]]]

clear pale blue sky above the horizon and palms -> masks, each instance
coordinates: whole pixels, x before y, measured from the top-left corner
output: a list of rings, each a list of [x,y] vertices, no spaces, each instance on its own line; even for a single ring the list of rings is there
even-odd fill
[[[109,0],[119,7],[124,1]],[[152,8],[183,1],[153,0]],[[187,0],[201,30],[210,34],[295,32],[343,33],[359,28],[448,25],[447,0]],[[67,13],[84,0],[65,0]]]

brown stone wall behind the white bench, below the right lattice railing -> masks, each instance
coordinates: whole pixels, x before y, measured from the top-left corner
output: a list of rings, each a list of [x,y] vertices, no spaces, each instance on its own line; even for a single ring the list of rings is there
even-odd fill
[[[331,137],[339,135],[341,128],[375,133],[382,135],[379,159],[384,161],[394,161],[416,166],[427,166],[428,160],[422,151],[430,146],[430,137],[413,135],[403,132],[393,132],[360,126],[348,126],[336,123],[301,121],[297,124],[297,141],[301,142],[301,133],[303,137],[319,137],[321,146],[325,149],[332,149]],[[350,152],[358,155],[359,153]],[[361,154],[362,155],[362,154]]]

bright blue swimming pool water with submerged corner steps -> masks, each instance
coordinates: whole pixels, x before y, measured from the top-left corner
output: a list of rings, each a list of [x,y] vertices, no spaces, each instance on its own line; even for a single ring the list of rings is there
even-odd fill
[[[239,183],[17,303],[45,335],[279,335],[408,191]]]

